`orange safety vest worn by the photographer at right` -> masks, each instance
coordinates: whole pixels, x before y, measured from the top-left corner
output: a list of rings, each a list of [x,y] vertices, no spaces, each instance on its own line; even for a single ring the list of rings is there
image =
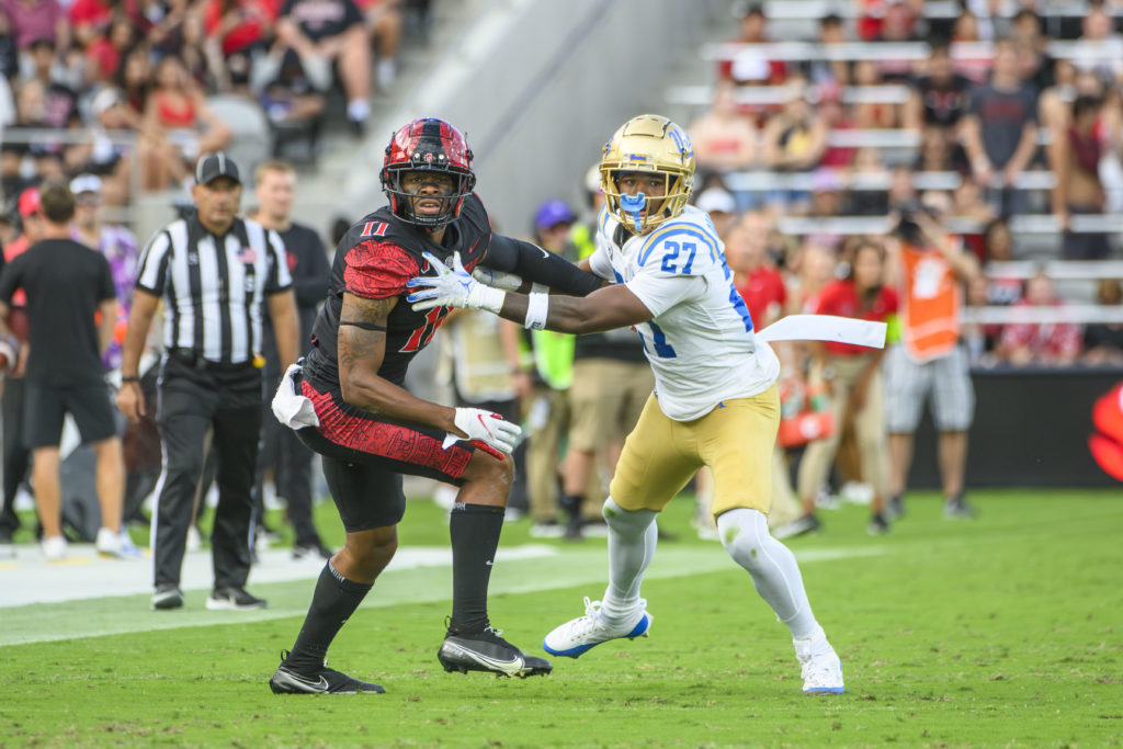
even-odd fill
[[[962,290],[956,271],[937,249],[904,245],[901,328],[905,350],[919,362],[943,356],[959,340]]]

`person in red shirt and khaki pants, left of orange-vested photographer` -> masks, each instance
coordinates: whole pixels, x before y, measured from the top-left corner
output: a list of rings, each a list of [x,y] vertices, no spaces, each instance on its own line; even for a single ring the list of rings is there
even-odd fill
[[[897,311],[897,292],[884,283],[885,249],[870,240],[859,241],[849,258],[849,274],[832,281],[819,294],[816,314],[836,314],[885,322]],[[807,446],[800,462],[798,491],[803,500],[806,530],[816,530],[815,496],[830,474],[842,438],[842,424],[852,414],[861,476],[874,487],[868,531],[880,535],[889,529],[885,517],[889,466],[882,390],[885,349],[849,344],[812,341],[809,382],[825,387],[834,412],[834,430]]]

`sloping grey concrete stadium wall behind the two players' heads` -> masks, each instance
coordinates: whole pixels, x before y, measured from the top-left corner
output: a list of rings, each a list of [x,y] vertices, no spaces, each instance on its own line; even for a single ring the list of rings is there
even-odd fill
[[[494,3],[424,85],[372,128],[380,136],[362,154],[364,167],[341,203],[354,216],[381,204],[377,174],[389,134],[436,116],[467,134],[480,194],[500,230],[526,235],[535,209],[550,198],[579,209],[578,185],[601,146],[629,117],[659,109],[669,66],[692,54],[728,8],[728,0]]]

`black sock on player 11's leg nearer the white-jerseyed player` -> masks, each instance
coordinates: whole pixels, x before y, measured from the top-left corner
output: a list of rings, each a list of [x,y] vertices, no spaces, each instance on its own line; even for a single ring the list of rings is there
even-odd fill
[[[503,531],[503,508],[456,503],[448,519],[453,539],[453,620],[457,632],[487,627],[487,583]]]

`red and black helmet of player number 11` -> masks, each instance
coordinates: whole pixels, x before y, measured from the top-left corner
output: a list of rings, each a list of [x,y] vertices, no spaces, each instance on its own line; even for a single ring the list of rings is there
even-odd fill
[[[442,197],[444,210],[433,216],[413,212],[410,198],[417,193],[402,189],[405,172],[440,172],[453,176],[453,194]],[[417,119],[394,133],[382,163],[382,191],[390,199],[390,210],[403,220],[426,229],[439,229],[460,214],[464,199],[476,186],[472,171],[472,150],[464,135],[433,117]]]

